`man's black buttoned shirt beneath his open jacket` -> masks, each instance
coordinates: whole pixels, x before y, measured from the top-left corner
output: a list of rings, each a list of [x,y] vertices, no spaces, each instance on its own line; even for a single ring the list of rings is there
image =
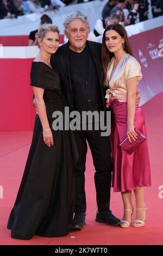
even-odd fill
[[[89,47],[86,44],[80,53],[69,49],[69,55],[74,110],[80,113],[103,110],[102,99],[99,97],[101,84]]]

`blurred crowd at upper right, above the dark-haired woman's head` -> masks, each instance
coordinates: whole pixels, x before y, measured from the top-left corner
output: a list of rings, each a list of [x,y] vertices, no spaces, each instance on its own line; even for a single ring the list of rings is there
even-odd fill
[[[163,15],[163,0],[108,0],[102,10],[102,19],[96,21],[94,34],[102,35],[112,23],[120,23],[124,27],[148,20],[150,4],[153,17]]]

